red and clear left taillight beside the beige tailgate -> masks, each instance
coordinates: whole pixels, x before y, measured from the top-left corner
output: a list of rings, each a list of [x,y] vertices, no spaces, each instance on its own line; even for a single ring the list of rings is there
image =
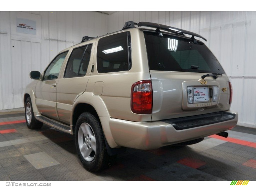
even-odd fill
[[[132,85],[131,110],[138,114],[152,113],[153,91],[151,80],[138,81]]]

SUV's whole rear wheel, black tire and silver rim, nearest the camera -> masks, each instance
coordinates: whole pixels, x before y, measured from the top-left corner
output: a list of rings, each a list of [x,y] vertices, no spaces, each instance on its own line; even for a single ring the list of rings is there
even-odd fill
[[[97,172],[109,162],[104,135],[99,120],[91,113],[82,113],[76,123],[75,143],[84,168]]]

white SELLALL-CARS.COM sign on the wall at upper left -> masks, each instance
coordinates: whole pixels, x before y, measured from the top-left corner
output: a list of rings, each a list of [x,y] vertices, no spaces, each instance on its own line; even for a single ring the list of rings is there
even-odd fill
[[[36,35],[36,21],[16,18],[16,32]]]

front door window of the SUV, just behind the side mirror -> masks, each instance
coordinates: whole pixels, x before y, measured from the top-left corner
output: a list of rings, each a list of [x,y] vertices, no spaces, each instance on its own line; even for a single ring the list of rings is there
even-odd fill
[[[46,69],[43,80],[51,80],[51,79],[58,78],[60,73],[60,68],[67,54],[68,54],[68,51],[61,53],[57,57],[55,57],[55,59],[50,63],[50,65]]]

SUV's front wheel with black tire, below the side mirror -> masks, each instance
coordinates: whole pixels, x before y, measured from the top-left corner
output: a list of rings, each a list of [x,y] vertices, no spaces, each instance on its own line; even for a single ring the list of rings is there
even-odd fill
[[[40,121],[37,121],[34,116],[30,97],[28,97],[25,102],[25,119],[26,119],[28,129],[40,129],[43,126],[43,123]]]

